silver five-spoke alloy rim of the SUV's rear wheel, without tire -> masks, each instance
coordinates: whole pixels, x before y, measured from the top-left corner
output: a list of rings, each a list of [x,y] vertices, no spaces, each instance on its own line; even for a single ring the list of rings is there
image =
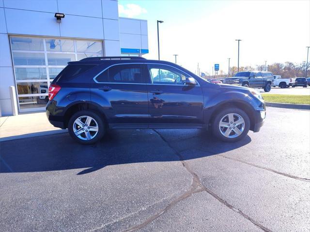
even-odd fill
[[[73,132],[81,140],[93,139],[98,131],[98,123],[91,116],[79,116],[73,123]]]

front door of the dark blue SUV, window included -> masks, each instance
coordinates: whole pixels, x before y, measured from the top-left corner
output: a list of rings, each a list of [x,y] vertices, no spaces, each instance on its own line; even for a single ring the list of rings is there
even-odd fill
[[[186,85],[190,76],[170,65],[148,64],[147,70],[150,127],[201,126],[203,96],[199,83]]]

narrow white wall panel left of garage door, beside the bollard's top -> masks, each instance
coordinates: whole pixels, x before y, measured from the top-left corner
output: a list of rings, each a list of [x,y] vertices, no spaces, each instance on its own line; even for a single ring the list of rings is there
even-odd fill
[[[9,99],[9,86],[15,86],[12,67],[0,67],[0,99]]]

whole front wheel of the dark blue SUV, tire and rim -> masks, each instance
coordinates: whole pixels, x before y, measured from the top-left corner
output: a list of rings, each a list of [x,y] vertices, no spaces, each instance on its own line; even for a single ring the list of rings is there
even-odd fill
[[[212,132],[224,142],[243,139],[249,131],[250,119],[241,109],[229,108],[220,111],[212,123]]]

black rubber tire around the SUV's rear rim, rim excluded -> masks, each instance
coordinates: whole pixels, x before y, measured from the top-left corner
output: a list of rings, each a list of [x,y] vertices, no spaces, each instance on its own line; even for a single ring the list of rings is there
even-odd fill
[[[90,116],[92,117],[95,122],[97,123],[98,126],[98,132],[97,134],[90,140],[83,140],[78,138],[78,136],[75,134],[74,129],[73,129],[73,124],[75,122],[76,119],[78,119],[81,116]],[[92,123],[94,123],[94,121],[92,121]],[[85,124],[86,125],[86,124]],[[84,126],[85,126],[84,125]],[[90,125],[88,125],[90,126]],[[87,129],[86,129],[87,130]],[[75,113],[73,116],[71,116],[69,122],[68,122],[68,131],[70,136],[77,141],[80,144],[85,144],[85,145],[89,145],[89,144],[94,144],[96,142],[98,142],[105,134],[106,129],[105,129],[105,124],[104,124],[104,120],[102,117],[100,117],[96,112],[91,111],[91,110],[81,110],[78,111],[77,113]],[[86,132],[85,132],[86,133]],[[94,132],[95,133],[95,132]],[[86,136],[86,134],[84,135]]]

